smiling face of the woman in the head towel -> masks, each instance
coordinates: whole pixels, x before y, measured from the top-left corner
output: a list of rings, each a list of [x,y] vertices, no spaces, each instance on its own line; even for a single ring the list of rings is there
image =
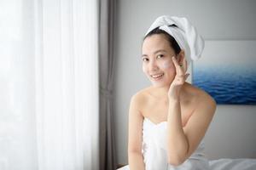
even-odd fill
[[[172,56],[175,52],[164,34],[154,34],[144,40],[143,72],[154,86],[170,86],[172,83],[176,75]]]

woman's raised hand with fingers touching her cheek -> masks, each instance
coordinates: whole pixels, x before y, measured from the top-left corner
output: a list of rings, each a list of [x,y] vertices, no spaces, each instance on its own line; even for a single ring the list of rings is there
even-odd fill
[[[174,77],[172,84],[168,91],[169,99],[177,100],[179,99],[180,90],[189,77],[189,74],[185,74],[187,71],[187,60],[183,57],[181,64],[178,64],[177,59],[173,56],[172,62],[176,68],[176,76]]]

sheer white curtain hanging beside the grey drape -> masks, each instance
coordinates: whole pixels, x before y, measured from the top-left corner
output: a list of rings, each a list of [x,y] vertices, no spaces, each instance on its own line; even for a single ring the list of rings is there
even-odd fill
[[[0,1],[0,169],[98,169],[96,0]]]

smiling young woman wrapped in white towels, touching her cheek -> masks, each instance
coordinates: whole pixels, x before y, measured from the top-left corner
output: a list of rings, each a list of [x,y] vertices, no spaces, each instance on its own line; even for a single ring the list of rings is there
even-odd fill
[[[216,104],[209,94],[186,82],[187,60],[199,58],[203,47],[202,38],[185,18],[161,16],[150,26],[142,59],[152,86],[131,98],[129,166],[123,169],[208,169],[202,139]]]

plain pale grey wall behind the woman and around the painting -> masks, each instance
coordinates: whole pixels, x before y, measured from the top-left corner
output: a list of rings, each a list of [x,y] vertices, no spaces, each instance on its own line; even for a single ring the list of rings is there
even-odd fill
[[[185,16],[205,40],[256,40],[255,8],[256,1],[253,0],[118,1],[114,116],[119,163],[127,163],[127,118],[131,95],[150,85],[143,75],[140,55],[143,35],[154,19],[162,14]],[[206,134],[208,157],[256,158],[255,122],[255,105],[218,105]]]

